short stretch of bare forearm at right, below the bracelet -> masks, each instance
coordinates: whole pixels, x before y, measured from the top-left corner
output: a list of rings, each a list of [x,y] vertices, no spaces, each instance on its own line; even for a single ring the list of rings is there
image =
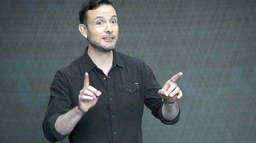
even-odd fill
[[[171,106],[169,106],[169,103],[166,103],[166,102],[163,104],[162,115],[166,120],[171,121],[175,119],[178,113],[179,113],[178,102],[176,102]]]

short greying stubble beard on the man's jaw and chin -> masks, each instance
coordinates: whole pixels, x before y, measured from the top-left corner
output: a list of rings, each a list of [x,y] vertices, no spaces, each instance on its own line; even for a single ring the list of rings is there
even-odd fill
[[[88,31],[87,33],[87,37],[92,39],[92,36],[90,34],[90,32]],[[112,34],[109,35],[105,35],[105,37],[114,37]],[[102,51],[102,52],[109,52],[111,50],[113,50],[115,48],[116,42],[118,41],[118,37],[115,36],[114,37],[116,39],[116,41],[114,42],[107,42],[106,44],[103,44],[102,42],[96,42],[93,40],[88,39],[88,42],[95,47],[97,50]]]

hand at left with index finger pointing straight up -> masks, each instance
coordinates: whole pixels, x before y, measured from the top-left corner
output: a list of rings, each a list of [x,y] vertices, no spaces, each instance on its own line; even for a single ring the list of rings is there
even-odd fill
[[[101,92],[89,85],[89,74],[85,73],[84,87],[78,96],[78,108],[82,113],[86,113],[93,107],[101,96]]]

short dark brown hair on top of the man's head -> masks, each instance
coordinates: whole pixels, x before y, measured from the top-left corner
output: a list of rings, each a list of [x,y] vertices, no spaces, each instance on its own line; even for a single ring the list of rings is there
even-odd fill
[[[108,0],[88,0],[87,2],[85,2],[79,11],[79,21],[80,24],[84,24],[87,26],[87,13],[88,10],[95,10],[96,8],[98,8],[101,5],[111,5],[117,14],[117,10],[116,7],[112,4],[112,1],[108,1]]]

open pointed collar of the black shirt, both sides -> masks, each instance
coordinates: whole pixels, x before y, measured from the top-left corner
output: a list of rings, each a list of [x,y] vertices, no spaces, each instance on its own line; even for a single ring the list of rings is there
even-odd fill
[[[93,68],[97,67],[95,65],[95,63],[92,61],[92,59],[90,58],[90,56],[88,55],[87,50],[88,50],[88,46],[86,47],[85,52],[82,55],[82,62],[83,62],[83,65],[84,65],[85,72],[89,72]],[[113,65],[112,65],[112,68],[114,68],[116,65],[121,67],[121,68],[124,67],[123,61],[121,60],[121,57],[120,57],[119,53],[116,52],[115,49],[113,49]]]

